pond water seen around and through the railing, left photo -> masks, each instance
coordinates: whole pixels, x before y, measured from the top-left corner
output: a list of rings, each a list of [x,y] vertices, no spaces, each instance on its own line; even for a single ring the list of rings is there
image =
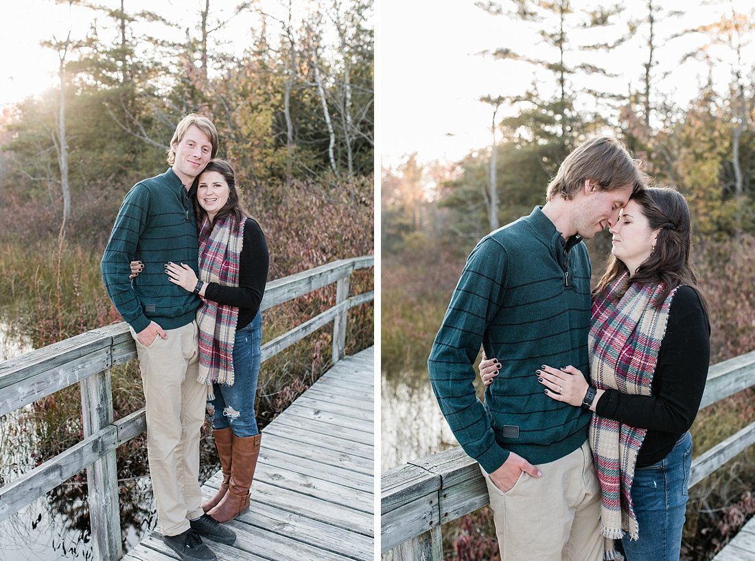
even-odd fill
[[[0,320],[0,361],[31,350],[29,341]],[[80,426],[80,419],[69,419],[65,424]],[[40,449],[45,435],[57,431],[60,427],[46,425],[32,405],[0,417],[0,485],[11,483],[39,465],[44,459]],[[146,473],[146,465],[136,456],[126,461],[130,463],[130,474]],[[119,474],[122,467],[119,465]],[[156,525],[149,477],[123,477],[119,480],[119,495],[124,550],[130,550]],[[89,527],[86,481],[79,474],[0,523],[0,559],[93,559]]]

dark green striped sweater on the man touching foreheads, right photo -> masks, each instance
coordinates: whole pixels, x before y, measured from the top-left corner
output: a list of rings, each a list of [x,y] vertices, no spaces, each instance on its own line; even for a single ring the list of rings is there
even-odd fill
[[[587,440],[590,412],[547,397],[535,370],[572,364],[588,375],[590,271],[581,240],[565,244],[541,207],[470,253],[428,369],[448,425],[488,473],[509,452],[545,464]],[[481,343],[501,362],[484,404],[473,388]]]

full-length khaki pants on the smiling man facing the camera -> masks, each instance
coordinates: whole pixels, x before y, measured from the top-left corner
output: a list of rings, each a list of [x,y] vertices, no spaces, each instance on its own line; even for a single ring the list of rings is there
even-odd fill
[[[202,516],[199,436],[205,422],[207,386],[196,381],[199,342],[196,322],[165,330],[149,347],[136,341],[144,399],[149,474],[158,529],[177,535]]]

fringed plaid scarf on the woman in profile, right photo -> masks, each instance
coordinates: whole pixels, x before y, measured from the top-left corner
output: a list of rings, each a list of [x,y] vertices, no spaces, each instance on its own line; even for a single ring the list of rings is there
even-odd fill
[[[625,272],[596,295],[588,345],[593,385],[622,394],[650,395],[658,351],[666,333],[672,290],[655,307],[664,284],[629,284]],[[614,540],[639,528],[632,504],[632,480],[637,453],[647,430],[593,415],[590,445],[602,493],[600,532],[606,537],[604,559],[616,559]]]

